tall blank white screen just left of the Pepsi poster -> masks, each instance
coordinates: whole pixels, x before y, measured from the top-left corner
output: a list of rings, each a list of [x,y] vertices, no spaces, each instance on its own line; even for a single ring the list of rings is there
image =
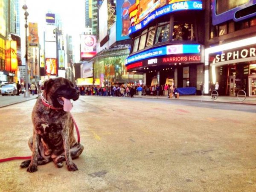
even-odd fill
[[[104,0],[99,8],[99,41],[108,35],[108,4]]]

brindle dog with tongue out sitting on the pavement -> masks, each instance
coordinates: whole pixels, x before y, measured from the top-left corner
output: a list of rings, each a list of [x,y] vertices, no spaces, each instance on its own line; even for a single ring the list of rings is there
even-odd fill
[[[35,172],[38,165],[53,160],[58,168],[66,161],[69,171],[78,170],[72,159],[79,157],[84,146],[74,137],[70,99],[79,99],[79,91],[71,81],[61,77],[45,81],[42,97],[38,98],[32,111],[34,130],[33,137],[29,139],[32,157],[23,161],[20,167],[28,167],[28,172]]]

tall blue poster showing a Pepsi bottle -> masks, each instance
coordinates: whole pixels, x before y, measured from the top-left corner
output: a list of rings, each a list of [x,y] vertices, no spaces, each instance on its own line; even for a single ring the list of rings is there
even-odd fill
[[[131,26],[129,8],[136,0],[116,1],[116,41],[128,39],[128,30]]]

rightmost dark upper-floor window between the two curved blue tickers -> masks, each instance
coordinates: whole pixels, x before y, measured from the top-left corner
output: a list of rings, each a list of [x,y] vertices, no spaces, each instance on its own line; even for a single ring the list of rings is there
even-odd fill
[[[175,22],[172,41],[195,41],[193,24]]]

